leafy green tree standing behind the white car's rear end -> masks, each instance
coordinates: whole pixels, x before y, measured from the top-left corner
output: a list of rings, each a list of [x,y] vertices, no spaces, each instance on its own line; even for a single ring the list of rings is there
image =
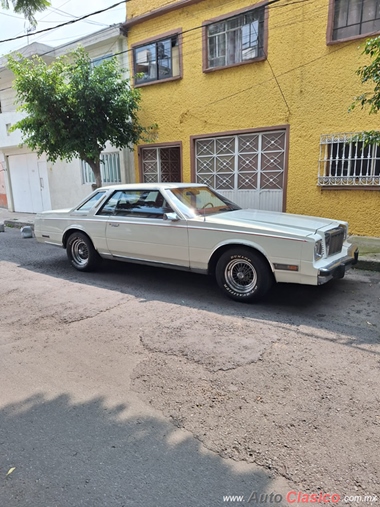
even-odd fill
[[[38,56],[8,57],[15,74],[18,110],[27,116],[12,126],[23,142],[48,160],[70,161],[79,157],[102,185],[100,154],[106,142],[133,149],[151,138],[155,125],[140,125],[140,91],[122,75],[116,58],[93,66],[79,48],[48,65]]]

